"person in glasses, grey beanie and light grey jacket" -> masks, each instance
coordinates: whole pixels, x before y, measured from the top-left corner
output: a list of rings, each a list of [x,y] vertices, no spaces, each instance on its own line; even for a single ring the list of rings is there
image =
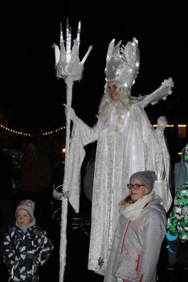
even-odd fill
[[[104,282],[154,282],[166,232],[165,209],[152,192],[155,173],[131,175],[129,196],[120,203]]]

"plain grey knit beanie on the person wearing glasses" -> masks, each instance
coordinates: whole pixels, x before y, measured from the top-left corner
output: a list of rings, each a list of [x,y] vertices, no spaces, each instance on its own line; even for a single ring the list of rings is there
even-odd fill
[[[133,175],[131,175],[130,182],[133,178],[143,182],[143,184],[146,185],[148,193],[152,191],[155,182],[155,172],[151,170],[135,172]]]

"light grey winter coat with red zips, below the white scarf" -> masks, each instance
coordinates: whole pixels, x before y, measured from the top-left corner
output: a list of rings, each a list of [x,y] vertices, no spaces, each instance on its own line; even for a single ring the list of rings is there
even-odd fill
[[[116,282],[116,277],[135,282],[154,282],[165,232],[165,210],[155,194],[136,220],[130,221],[121,214],[104,282]]]

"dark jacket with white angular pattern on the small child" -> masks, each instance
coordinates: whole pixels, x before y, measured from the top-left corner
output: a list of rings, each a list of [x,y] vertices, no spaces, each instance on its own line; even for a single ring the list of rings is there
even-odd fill
[[[8,281],[39,281],[38,272],[34,273],[34,265],[37,268],[42,266],[49,259],[52,250],[52,242],[40,226],[30,226],[23,233],[15,222],[11,223],[3,245]]]

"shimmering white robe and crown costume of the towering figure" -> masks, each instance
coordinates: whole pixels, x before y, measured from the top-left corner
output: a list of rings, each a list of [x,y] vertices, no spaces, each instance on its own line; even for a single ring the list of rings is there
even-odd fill
[[[129,107],[117,114],[112,107],[108,122],[99,115],[97,124],[88,127],[81,119],[74,120],[69,151],[69,202],[79,209],[79,180],[84,146],[98,141],[93,181],[93,200],[88,269],[104,274],[119,218],[118,204],[127,196],[129,177],[137,171],[153,170],[154,190],[168,211],[172,203],[169,189],[169,153],[160,130],[154,130],[144,108],[171,94],[172,78],[163,81],[150,95],[131,96],[131,86],[139,71],[139,47],[134,38],[124,47],[110,42],[105,74],[107,80],[119,81],[128,97]]]

